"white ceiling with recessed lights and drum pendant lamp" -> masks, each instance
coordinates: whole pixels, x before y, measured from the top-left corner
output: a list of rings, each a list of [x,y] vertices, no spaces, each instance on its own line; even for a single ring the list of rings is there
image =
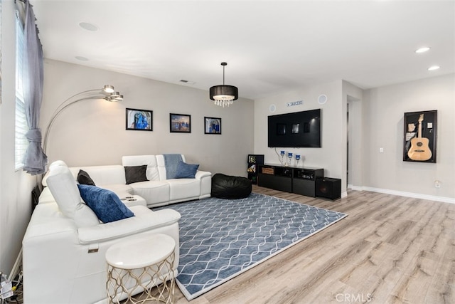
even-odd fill
[[[31,3],[45,58],[203,90],[223,83],[226,61],[225,83],[242,98],[340,79],[366,89],[455,73],[453,0]],[[422,46],[431,50],[414,53]]]

